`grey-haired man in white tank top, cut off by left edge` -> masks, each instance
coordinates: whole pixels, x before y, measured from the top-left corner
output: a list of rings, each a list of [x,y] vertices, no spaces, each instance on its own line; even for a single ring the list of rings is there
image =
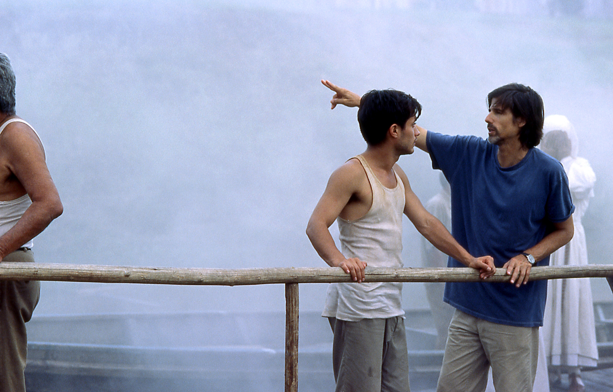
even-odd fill
[[[63,212],[34,129],[15,116],[15,73],[0,53],[0,262],[34,262],[32,238]],[[25,392],[25,323],[37,281],[0,281],[0,392]]]

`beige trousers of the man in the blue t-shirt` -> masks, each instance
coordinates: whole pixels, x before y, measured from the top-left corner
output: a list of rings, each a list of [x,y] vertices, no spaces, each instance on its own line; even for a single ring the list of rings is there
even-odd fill
[[[496,392],[532,392],[538,347],[538,326],[492,323],[456,310],[436,391],[485,391],[492,366]]]

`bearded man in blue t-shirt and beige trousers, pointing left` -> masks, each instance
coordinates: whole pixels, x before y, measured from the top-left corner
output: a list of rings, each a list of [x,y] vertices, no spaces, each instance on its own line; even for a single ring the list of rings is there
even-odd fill
[[[337,104],[358,106],[336,92]],[[487,96],[488,138],[449,136],[419,127],[416,146],[451,185],[452,235],[470,254],[491,255],[508,283],[449,282],[444,301],[456,308],[437,391],[484,391],[492,367],[497,392],[532,391],[543,325],[546,281],[528,281],[535,265],[573,237],[574,206],[560,162],[538,145],[543,100],[517,83]],[[449,266],[462,266],[449,258]]]

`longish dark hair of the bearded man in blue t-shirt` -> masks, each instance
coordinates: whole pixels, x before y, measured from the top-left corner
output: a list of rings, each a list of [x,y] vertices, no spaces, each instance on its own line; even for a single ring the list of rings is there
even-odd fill
[[[543,138],[543,120],[545,110],[543,99],[538,92],[519,83],[509,83],[487,94],[487,107],[492,100],[497,99],[501,110],[511,110],[514,118],[522,118],[526,122],[519,130],[519,141],[522,146],[533,148],[538,146]]]

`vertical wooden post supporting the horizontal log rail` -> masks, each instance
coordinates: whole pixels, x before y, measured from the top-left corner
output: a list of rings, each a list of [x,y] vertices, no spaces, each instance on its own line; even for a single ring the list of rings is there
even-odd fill
[[[285,392],[298,392],[298,284],[285,284]]]

